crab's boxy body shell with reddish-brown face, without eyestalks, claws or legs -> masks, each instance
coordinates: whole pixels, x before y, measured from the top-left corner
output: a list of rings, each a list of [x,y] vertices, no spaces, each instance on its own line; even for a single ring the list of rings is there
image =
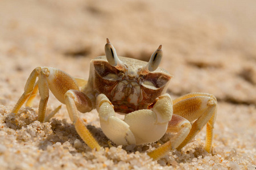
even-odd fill
[[[155,99],[164,94],[172,78],[166,70],[158,67],[155,71],[142,73],[147,62],[118,57],[122,66],[112,66],[105,56],[92,59],[86,94],[105,94],[114,105],[115,112],[130,113],[147,109]]]

